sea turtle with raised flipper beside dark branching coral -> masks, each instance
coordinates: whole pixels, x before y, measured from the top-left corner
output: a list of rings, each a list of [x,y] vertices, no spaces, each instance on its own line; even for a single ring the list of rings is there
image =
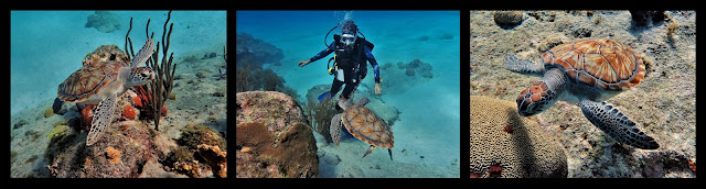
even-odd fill
[[[131,64],[116,60],[88,64],[78,68],[58,85],[57,98],[54,100],[55,108],[61,108],[63,102],[98,104],[90,122],[86,145],[96,143],[106,126],[114,120],[118,96],[125,93],[130,87],[146,85],[154,79],[152,68],[138,67],[152,56],[153,48],[154,42],[148,38]]]

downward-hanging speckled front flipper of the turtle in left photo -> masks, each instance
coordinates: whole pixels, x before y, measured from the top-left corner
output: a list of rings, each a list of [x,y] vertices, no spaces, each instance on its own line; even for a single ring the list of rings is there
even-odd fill
[[[114,112],[118,107],[118,97],[113,93],[110,97],[104,99],[96,107],[95,115],[93,121],[90,121],[90,131],[88,132],[88,137],[86,138],[86,145],[90,146],[100,140],[100,135],[105,131],[110,122],[114,120]]]

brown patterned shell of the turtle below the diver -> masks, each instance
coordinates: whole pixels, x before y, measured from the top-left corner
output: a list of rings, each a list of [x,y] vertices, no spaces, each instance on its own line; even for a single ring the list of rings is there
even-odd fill
[[[379,147],[393,148],[395,146],[395,136],[385,120],[377,116],[370,109],[352,104],[343,115],[341,122],[345,129],[356,138]]]

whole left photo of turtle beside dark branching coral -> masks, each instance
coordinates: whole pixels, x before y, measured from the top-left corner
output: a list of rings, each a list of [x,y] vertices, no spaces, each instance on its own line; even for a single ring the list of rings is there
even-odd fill
[[[227,177],[226,33],[226,11],[10,11],[10,177]]]

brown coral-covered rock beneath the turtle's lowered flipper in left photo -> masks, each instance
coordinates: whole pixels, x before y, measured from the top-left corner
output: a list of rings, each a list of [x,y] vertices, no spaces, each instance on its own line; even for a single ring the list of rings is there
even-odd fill
[[[106,129],[96,144],[86,146],[85,134],[71,132],[53,140],[45,149],[51,177],[138,177],[152,158],[152,133],[138,121],[117,122]],[[119,149],[116,152],[114,149]]]

